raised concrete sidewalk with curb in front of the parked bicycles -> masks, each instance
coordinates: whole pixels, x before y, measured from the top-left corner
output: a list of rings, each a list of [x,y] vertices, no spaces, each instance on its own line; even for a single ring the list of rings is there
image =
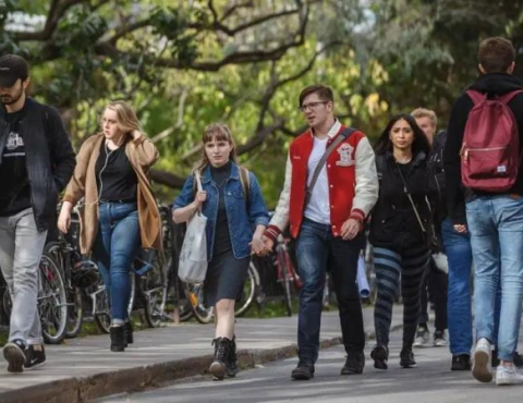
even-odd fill
[[[401,326],[394,307],[392,327]],[[368,344],[374,339],[373,308],[364,309]],[[296,354],[297,316],[239,319],[239,362],[242,368]],[[338,313],[324,313],[321,345],[340,343]],[[155,388],[177,379],[205,374],[212,361],[212,325],[187,323],[135,332],[124,353],[109,351],[109,335],[69,340],[46,346],[48,364],[34,371],[0,374],[0,402],[75,403]],[[368,357],[367,357],[368,358]]]

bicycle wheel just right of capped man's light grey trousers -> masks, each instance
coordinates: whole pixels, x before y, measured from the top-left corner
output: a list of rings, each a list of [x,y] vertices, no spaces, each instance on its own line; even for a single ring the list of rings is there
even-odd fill
[[[60,344],[65,338],[68,325],[68,300],[62,276],[54,260],[47,255],[41,255],[38,273],[38,310],[44,341]]]

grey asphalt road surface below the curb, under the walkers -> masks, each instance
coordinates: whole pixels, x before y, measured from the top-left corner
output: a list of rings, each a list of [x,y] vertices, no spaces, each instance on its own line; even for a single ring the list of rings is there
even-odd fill
[[[185,379],[174,386],[149,392],[104,399],[104,403],[498,403],[521,402],[523,386],[496,387],[479,383],[470,371],[450,371],[445,347],[416,350],[418,368],[399,366],[401,332],[391,337],[388,371],[373,367],[369,349],[363,375],[341,377],[343,349],[323,350],[311,381],[292,381],[290,373],[297,359],[269,363],[241,371],[238,379],[211,381],[208,376]],[[520,344],[520,351],[523,344]]]

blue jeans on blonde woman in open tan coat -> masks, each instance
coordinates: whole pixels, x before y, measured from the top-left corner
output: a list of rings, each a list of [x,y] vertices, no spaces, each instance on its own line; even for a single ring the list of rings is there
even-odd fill
[[[141,243],[136,203],[100,203],[98,219],[94,259],[106,284],[112,321],[121,323],[127,319],[131,268]]]

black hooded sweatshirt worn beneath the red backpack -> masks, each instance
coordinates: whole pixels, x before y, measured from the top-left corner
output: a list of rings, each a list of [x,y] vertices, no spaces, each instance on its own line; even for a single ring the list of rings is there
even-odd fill
[[[491,95],[504,95],[514,89],[523,89],[521,81],[510,74],[491,73],[481,76],[467,89]],[[465,190],[461,183],[461,158],[460,150],[463,143],[466,120],[474,103],[472,99],[462,94],[452,107],[447,133],[447,145],[443,152],[445,178],[447,182],[447,206],[449,217],[454,224],[466,223],[465,200],[491,193]],[[509,108],[514,113],[520,135],[520,147],[523,146],[523,94],[516,95],[510,102]],[[521,149],[520,149],[521,154]],[[523,195],[523,169],[520,167],[518,180],[507,194]]]

